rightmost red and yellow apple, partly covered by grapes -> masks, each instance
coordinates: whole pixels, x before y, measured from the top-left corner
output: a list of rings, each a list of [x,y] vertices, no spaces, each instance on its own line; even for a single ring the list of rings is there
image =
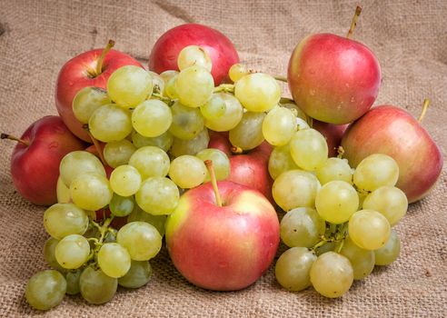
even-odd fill
[[[427,195],[442,171],[442,153],[411,114],[392,105],[374,107],[343,135],[344,157],[357,166],[370,154],[388,154],[399,164],[399,187],[410,203]]]

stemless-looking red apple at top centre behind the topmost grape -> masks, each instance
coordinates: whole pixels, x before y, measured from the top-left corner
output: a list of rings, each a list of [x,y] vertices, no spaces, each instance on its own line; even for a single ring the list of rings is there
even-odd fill
[[[227,77],[232,65],[239,63],[239,55],[228,37],[205,25],[186,24],[160,36],[149,56],[149,69],[156,73],[178,70],[177,56],[188,45],[201,46],[210,55],[211,74],[216,85]]]

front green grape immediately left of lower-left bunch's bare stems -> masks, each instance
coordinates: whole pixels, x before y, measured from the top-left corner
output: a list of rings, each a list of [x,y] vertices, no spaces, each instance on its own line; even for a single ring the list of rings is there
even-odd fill
[[[65,236],[55,247],[55,259],[62,267],[73,270],[88,260],[90,244],[79,234]]]

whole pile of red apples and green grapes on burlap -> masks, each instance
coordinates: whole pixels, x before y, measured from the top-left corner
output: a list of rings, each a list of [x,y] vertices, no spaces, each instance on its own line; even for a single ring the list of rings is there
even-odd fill
[[[106,303],[118,284],[139,288],[164,236],[188,281],[220,291],[254,283],[280,238],[290,249],[275,275],[290,291],[313,285],[339,297],[395,261],[392,226],[432,188],[442,155],[409,114],[369,111],[382,75],[373,52],[349,39],[359,14],[348,38],[297,45],[287,79],[239,64],[231,42],[203,25],[162,35],[153,71],[113,41],[67,62],[55,94],[62,120],[2,134],[19,142],[18,191],[51,205],[44,256],[53,270],[29,280],[28,303],[48,310],[65,293]],[[417,177],[414,149],[431,158]]]

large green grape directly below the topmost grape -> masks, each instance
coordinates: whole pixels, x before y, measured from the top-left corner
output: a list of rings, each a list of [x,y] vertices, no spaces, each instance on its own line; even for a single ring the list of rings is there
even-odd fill
[[[213,75],[202,66],[189,66],[177,75],[175,91],[180,103],[188,107],[200,107],[208,102],[213,94]]]

